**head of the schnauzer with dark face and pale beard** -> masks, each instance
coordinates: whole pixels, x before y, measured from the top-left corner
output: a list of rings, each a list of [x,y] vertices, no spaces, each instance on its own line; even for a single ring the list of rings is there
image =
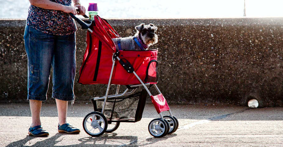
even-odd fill
[[[157,27],[155,27],[152,23],[148,25],[144,25],[144,23],[142,23],[135,28],[138,36],[147,46],[157,43],[158,37],[157,34],[155,34]]]

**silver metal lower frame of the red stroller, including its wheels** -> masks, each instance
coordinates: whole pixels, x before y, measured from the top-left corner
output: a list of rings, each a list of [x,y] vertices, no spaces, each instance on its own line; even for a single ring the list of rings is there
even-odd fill
[[[154,97],[156,97],[156,96],[153,96],[150,93],[149,89],[147,88],[147,86],[151,85],[151,84],[150,83],[144,83],[141,80],[141,78],[136,74],[134,69],[133,68],[130,69],[132,67],[131,65],[130,65],[130,67],[126,67],[125,70],[129,69],[128,72],[129,73],[133,73],[136,76],[136,78],[140,81],[141,84],[134,84],[134,85],[131,85],[130,87],[127,86],[127,89],[125,89],[125,91],[123,93],[120,93],[120,94],[119,94],[120,85],[118,84],[117,85],[117,89],[116,89],[116,93],[113,94],[113,95],[108,95],[109,94],[109,89],[110,89],[110,86],[111,86],[111,79],[112,79],[112,75],[113,75],[113,72],[114,72],[114,66],[115,66],[115,63],[116,63],[116,59],[118,61],[121,60],[118,57],[118,55],[119,55],[119,51],[116,50],[116,53],[113,53],[113,56],[112,56],[113,64],[112,64],[111,73],[110,73],[110,77],[109,77],[109,81],[108,81],[108,85],[107,85],[107,90],[106,90],[105,96],[95,97],[95,98],[91,99],[95,112],[91,112],[91,113],[87,114],[86,117],[84,118],[84,120],[83,120],[83,128],[84,128],[85,132],[87,134],[91,135],[91,136],[100,136],[100,135],[104,134],[105,132],[110,133],[110,132],[115,131],[119,127],[120,122],[123,122],[123,121],[119,121],[119,120],[112,120],[113,115],[114,115],[114,111],[115,111],[114,109],[115,109],[116,98],[119,98],[119,97],[122,97],[122,96],[131,95],[131,94],[133,94],[136,91],[136,89],[138,87],[142,86],[143,89],[145,89],[147,91],[147,93],[149,94],[149,96],[151,97],[152,102],[154,104],[154,107],[155,107],[155,109],[157,110],[157,112],[158,112],[158,114],[160,116],[160,118],[153,119],[149,123],[149,125],[148,125],[149,133],[153,137],[158,137],[158,138],[159,137],[164,137],[167,134],[174,133],[178,129],[178,126],[179,126],[178,119],[175,116],[173,116],[171,110],[168,107],[168,104],[167,104],[166,100],[164,99],[164,97],[163,97],[162,93],[160,92],[160,90],[158,89],[157,85],[156,84],[152,84],[154,86],[154,88],[157,90],[157,92],[159,93],[159,95],[157,95],[157,98],[160,100],[159,96],[161,95],[161,97],[163,97],[163,102],[165,102],[166,105],[167,105],[167,107],[165,105],[165,109],[156,107],[156,103],[158,103],[158,102],[155,102],[155,100],[154,100],[155,99]],[[119,62],[119,63],[123,66],[123,61],[122,61],[122,63],[121,62]],[[132,71],[130,71],[130,70],[132,70]],[[128,92],[129,89],[131,89],[130,92]],[[108,110],[108,112],[111,111],[109,120],[104,115],[107,99],[115,99],[114,100],[114,104],[113,104],[113,109]],[[102,106],[102,109],[101,109],[100,112],[98,112],[98,109],[97,109],[97,104],[96,104],[97,100],[104,100],[103,106]],[[162,111],[168,111],[169,115],[163,116],[162,113],[161,113]],[[90,117],[92,117],[92,119],[90,119]],[[91,123],[89,121],[87,121],[88,119],[91,120]],[[139,121],[139,120],[137,120],[137,121]],[[94,124],[93,124],[93,122],[94,122]],[[90,130],[87,129],[87,124],[91,125],[91,129]],[[110,128],[109,124],[114,124],[115,125],[114,128]],[[103,128],[102,128],[102,126],[103,126]],[[99,132],[98,133],[94,133],[95,129],[97,129],[97,128],[99,129]],[[91,131],[93,129],[94,129],[94,131],[92,133]]]

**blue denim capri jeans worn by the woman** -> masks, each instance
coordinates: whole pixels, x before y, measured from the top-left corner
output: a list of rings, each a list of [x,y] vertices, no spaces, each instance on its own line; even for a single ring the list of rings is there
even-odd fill
[[[76,38],[70,35],[43,33],[29,25],[25,27],[25,51],[28,57],[28,97],[47,100],[50,69],[53,67],[52,98],[73,100],[76,71]]]

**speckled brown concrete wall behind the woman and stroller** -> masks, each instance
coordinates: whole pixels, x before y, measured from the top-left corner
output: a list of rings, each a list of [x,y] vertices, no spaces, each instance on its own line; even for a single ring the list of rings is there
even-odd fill
[[[283,18],[110,19],[122,37],[134,26],[158,27],[158,87],[169,103],[283,105]],[[25,20],[0,20],[0,101],[27,102]],[[77,31],[77,74],[86,31]],[[50,83],[48,98],[51,99]],[[75,83],[76,100],[105,93],[101,85]],[[113,89],[115,89],[113,87]]]

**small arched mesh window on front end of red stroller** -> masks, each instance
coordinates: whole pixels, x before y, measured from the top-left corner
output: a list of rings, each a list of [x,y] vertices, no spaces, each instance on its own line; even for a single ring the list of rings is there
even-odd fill
[[[147,75],[145,78],[145,82],[157,83],[158,81],[158,62],[156,60],[151,60],[147,66]]]

